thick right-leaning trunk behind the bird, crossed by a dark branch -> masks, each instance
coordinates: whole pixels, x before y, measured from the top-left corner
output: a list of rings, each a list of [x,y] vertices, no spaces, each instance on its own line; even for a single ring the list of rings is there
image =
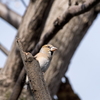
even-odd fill
[[[43,34],[52,26],[55,18],[63,14],[67,3],[66,0],[56,0],[54,5]],[[57,10],[59,10],[59,12]],[[50,41],[51,44],[58,48],[58,51],[54,54],[50,67],[45,74],[45,79],[52,96],[57,93],[61,78],[68,70],[68,65],[70,64],[70,60],[76,48],[97,17],[97,14],[95,8],[93,8],[85,14],[74,17]],[[53,15],[55,15],[55,17],[53,17]]]

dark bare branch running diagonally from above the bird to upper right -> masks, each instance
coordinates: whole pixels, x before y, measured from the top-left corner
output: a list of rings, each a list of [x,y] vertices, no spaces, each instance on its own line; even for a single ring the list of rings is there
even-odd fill
[[[48,43],[56,34],[57,32],[63,28],[65,24],[67,24],[74,16],[80,15],[89,11],[93,8],[100,0],[88,0],[86,3],[78,6],[70,6],[62,17],[58,17],[54,24],[52,25],[51,29],[41,37],[40,41],[37,43],[35,49],[32,51],[32,54],[36,54],[38,50],[41,48],[43,44]]]

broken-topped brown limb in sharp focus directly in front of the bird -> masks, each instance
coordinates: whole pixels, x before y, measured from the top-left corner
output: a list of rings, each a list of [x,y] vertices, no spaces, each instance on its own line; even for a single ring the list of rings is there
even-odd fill
[[[29,77],[30,86],[34,94],[35,100],[51,100],[48,88],[43,78],[41,68],[38,61],[34,59],[31,53],[23,51],[23,46],[20,39],[17,39],[17,44],[20,54]],[[10,99],[16,100],[16,99]]]

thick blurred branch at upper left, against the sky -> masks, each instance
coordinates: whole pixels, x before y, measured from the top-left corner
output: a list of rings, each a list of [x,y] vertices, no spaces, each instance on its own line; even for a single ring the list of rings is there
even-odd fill
[[[0,2],[0,17],[18,29],[22,17]]]

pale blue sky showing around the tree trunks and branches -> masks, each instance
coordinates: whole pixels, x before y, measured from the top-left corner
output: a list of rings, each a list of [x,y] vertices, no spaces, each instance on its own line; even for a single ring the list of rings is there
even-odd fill
[[[28,0],[26,0],[28,3]],[[16,0],[17,2],[17,0]],[[9,7],[24,14],[22,3],[13,0]],[[0,43],[10,50],[17,30],[0,18]],[[75,93],[81,100],[100,99],[100,14],[77,48],[66,75]],[[0,67],[4,66],[6,56],[0,51]]]

